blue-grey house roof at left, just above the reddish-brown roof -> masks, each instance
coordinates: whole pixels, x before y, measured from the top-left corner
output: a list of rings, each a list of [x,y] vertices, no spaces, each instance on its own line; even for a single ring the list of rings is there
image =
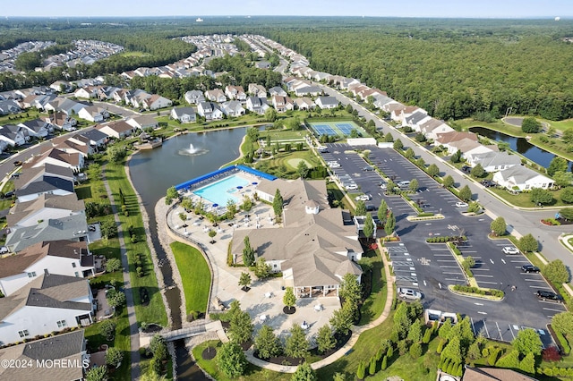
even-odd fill
[[[6,237],[6,246],[11,246],[14,252],[18,252],[41,241],[80,238],[87,234],[87,230],[88,224],[83,214],[50,218],[34,226],[13,229]]]

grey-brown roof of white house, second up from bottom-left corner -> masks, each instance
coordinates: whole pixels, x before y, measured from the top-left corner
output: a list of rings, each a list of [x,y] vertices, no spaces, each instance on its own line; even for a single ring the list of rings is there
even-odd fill
[[[10,296],[0,299],[0,319],[25,306],[90,311],[91,303],[73,301],[90,294],[90,283],[75,276],[42,274]]]

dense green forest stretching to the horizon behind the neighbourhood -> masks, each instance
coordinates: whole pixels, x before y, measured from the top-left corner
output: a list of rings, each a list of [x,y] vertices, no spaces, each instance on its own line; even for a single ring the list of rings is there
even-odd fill
[[[512,113],[547,119],[573,117],[573,21],[440,20],[318,17],[91,19],[0,21],[0,47],[30,39],[67,44],[94,38],[141,55],[115,55],[83,76],[172,63],[195,47],[176,37],[252,33],[306,55],[312,68],[355,77],[390,97],[417,105],[442,119]],[[244,48],[244,47],[243,47]],[[232,63],[232,62],[229,62]],[[222,63],[213,63],[224,69]],[[232,69],[232,68],[231,68]],[[228,69],[225,69],[231,72]],[[260,74],[257,74],[260,75]],[[56,70],[26,76],[0,74],[0,90],[51,83],[79,73]],[[257,78],[233,72],[244,84]],[[274,83],[265,78],[265,83]],[[188,84],[182,85],[187,88]],[[177,91],[179,92],[179,91]]]

